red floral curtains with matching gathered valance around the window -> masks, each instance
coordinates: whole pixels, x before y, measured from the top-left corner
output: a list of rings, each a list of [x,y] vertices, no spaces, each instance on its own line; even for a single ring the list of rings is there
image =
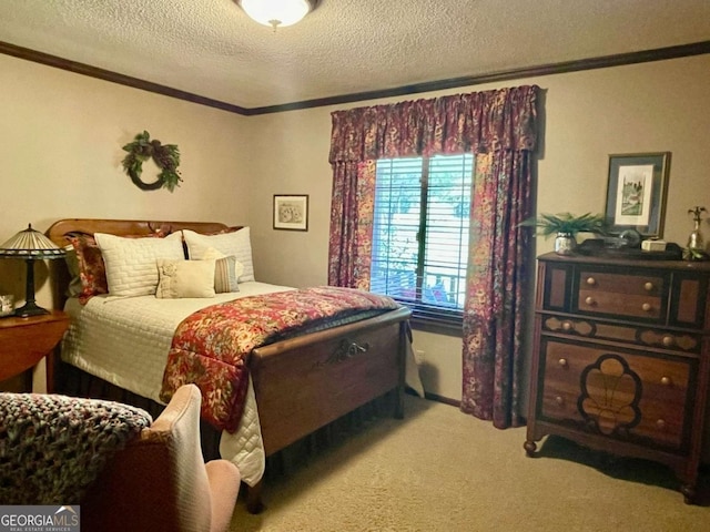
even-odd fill
[[[367,287],[376,160],[477,155],[462,410],[497,427],[519,422],[520,298],[529,242],[516,226],[532,211],[538,91],[525,85],[332,113],[331,285]]]

